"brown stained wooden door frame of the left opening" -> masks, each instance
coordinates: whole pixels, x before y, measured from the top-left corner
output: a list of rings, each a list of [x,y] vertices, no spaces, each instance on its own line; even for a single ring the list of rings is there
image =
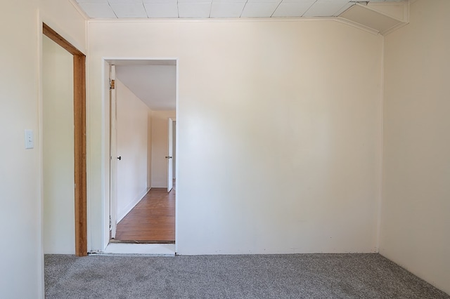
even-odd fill
[[[86,209],[86,55],[42,23],[42,33],[73,55],[75,255],[87,255]]]

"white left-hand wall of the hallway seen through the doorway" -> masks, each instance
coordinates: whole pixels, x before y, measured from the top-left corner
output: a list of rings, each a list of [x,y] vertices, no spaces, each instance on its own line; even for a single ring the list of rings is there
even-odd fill
[[[116,79],[117,221],[148,192],[148,112],[150,109]]]

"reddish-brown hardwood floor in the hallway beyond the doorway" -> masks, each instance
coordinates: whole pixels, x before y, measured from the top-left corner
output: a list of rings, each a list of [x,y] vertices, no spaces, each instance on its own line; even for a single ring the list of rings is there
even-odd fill
[[[175,185],[152,188],[117,224],[114,241],[133,243],[175,242]]]

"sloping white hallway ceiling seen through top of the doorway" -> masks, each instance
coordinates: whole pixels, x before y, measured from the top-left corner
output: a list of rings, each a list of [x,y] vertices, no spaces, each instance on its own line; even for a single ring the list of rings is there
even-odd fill
[[[175,110],[176,65],[169,63],[172,65],[164,65],[164,62],[148,65],[148,62],[122,60],[115,67],[116,78],[150,109]]]

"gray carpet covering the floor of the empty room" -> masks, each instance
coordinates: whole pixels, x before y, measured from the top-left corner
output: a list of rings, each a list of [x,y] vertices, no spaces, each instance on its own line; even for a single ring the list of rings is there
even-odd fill
[[[450,298],[379,254],[45,256],[46,298]]]

